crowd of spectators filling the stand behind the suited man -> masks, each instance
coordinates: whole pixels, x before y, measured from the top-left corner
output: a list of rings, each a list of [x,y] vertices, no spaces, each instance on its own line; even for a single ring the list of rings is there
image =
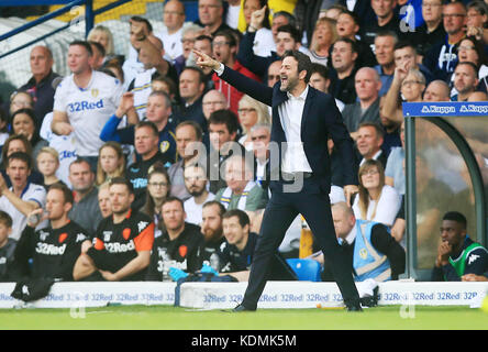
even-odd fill
[[[25,256],[35,257],[34,266],[48,257],[59,266],[48,275],[77,280],[166,280],[211,265],[245,280],[248,246],[270,196],[275,107],[198,67],[192,50],[270,87],[280,84],[281,55],[291,50],[310,57],[310,86],[335,98],[355,141],[359,193],[344,204],[330,141],[331,200],[341,202],[351,229],[356,220],[381,224],[378,237],[386,244],[377,250],[389,249],[393,277],[401,275],[401,105],[487,100],[488,4],[298,0],[292,12],[277,7],[266,0],[199,0],[198,20],[188,22],[185,2],[168,0],[159,33],[143,16],[130,19],[126,53],[114,51],[117,33],[103,25],[87,41],[71,42],[67,77],[53,72],[48,47],[32,48],[32,78],[0,111],[2,263],[21,263],[11,272],[40,276]],[[445,219],[466,226],[457,215]],[[298,219],[287,232],[288,256],[299,256],[303,223]],[[432,231],[428,237],[439,241]],[[46,244],[38,244],[42,253],[32,250],[34,242]],[[440,250],[431,263],[436,277],[456,249]],[[241,253],[239,265],[229,262],[232,251]],[[488,264],[479,267],[485,272],[473,274],[488,279]],[[0,268],[2,279],[16,279]],[[455,271],[448,276],[461,279]]]

